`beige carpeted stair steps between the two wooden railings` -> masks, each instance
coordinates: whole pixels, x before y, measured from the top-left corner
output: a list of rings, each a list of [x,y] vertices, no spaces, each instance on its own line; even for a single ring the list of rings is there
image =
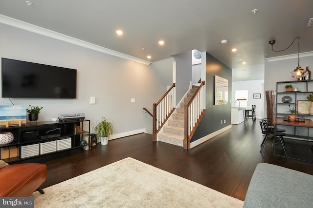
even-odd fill
[[[184,141],[184,106],[190,101],[191,97],[195,94],[198,86],[192,86],[193,88],[183,98],[183,102],[179,104],[179,108],[176,108],[168,119],[167,126],[163,127],[163,132],[157,134],[157,141],[177,145],[183,147]]]

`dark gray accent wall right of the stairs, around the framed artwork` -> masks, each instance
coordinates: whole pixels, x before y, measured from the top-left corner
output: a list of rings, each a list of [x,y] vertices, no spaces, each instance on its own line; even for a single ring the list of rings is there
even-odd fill
[[[214,105],[215,76],[228,79],[228,104]],[[216,132],[230,125],[231,119],[231,68],[224,63],[206,53],[206,112],[196,130],[192,142],[210,133]],[[224,123],[224,119],[226,123]],[[221,124],[223,120],[223,124]]]

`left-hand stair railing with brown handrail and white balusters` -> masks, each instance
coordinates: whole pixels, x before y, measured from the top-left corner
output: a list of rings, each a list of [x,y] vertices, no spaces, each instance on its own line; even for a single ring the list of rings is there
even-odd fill
[[[153,129],[152,140],[156,141],[156,134],[160,131],[170,115],[174,112],[173,107],[175,83],[166,91],[166,93],[153,104]]]

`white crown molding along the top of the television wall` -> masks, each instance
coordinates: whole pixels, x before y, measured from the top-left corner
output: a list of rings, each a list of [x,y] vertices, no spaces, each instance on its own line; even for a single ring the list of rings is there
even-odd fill
[[[135,62],[138,62],[138,63],[142,63],[142,64],[146,64],[146,65],[150,65],[152,63],[150,61],[146,61],[146,60],[141,59],[141,58],[132,57],[132,56],[129,56],[127,54],[123,54],[123,53],[120,53],[120,52],[117,52],[117,51],[113,51],[111,49],[108,49],[108,48],[105,48],[105,47],[102,47],[102,46],[99,46],[99,45],[95,45],[93,43],[86,42],[84,40],[80,40],[80,39],[77,39],[77,38],[66,36],[64,34],[57,33],[57,32],[54,32],[52,30],[48,30],[48,29],[45,29],[43,27],[39,27],[39,26],[36,26],[36,25],[30,24],[30,23],[24,22],[24,21],[21,21],[21,20],[18,20],[18,19],[13,19],[13,18],[4,16],[4,15],[0,15],[0,22],[3,23],[3,24],[7,24],[7,25],[10,25],[10,26],[13,26],[13,27],[17,27],[17,28],[23,29],[23,30],[34,32],[34,33],[37,33],[37,34],[40,34],[40,35],[43,35],[43,36],[59,39],[59,40],[65,41],[65,42],[69,42],[69,43],[72,43],[72,44],[75,44],[75,45],[79,45],[79,46],[82,46],[82,47],[85,47],[85,48],[89,48],[91,50],[95,50],[95,51],[98,51],[98,52],[101,52],[101,53],[109,54],[109,55],[112,55],[112,56],[115,56],[115,57],[120,57],[120,58],[124,58],[124,59],[127,59],[127,60],[132,60],[132,61],[135,61]]]

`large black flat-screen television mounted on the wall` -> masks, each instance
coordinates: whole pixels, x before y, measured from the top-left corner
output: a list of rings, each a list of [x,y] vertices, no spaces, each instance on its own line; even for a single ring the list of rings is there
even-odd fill
[[[2,97],[76,98],[77,70],[2,58]]]

